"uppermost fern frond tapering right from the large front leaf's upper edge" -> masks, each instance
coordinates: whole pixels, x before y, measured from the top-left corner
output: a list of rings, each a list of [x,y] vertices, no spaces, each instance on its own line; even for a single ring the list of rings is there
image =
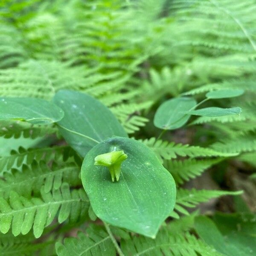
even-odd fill
[[[174,142],[168,142],[163,140],[156,140],[152,137],[146,140],[140,140],[149,148],[151,148],[160,160],[170,160],[172,158],[180,157],[230,157],[236,154],[232,152],[224,153],[212,148],[202,148],[199,146],[183,145],[181,143],[175,144]]]

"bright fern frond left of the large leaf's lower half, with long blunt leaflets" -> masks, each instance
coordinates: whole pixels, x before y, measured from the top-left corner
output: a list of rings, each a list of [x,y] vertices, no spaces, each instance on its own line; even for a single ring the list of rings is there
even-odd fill
[[[12,233],[17,236],[29,233],[33,227],[38,238],[56,215],[59,223],[68,218],[75,222],[87,215],[88,208],[84,189],[70,191],[67,183],[48,193],[42,188],[41,198],[27,199],[12,191],[7,201],[0,198],[0,231],[7,233],[12,225]]]

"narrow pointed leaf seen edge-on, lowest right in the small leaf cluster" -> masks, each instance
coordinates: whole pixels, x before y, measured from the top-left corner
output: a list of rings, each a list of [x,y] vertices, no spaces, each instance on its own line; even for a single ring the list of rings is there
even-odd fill
[[[235,108],[201,108],[192,111],[188,111],[191,115],[195,116],[230,116],[230,115],[239,115],[242,109],[239,107]]]

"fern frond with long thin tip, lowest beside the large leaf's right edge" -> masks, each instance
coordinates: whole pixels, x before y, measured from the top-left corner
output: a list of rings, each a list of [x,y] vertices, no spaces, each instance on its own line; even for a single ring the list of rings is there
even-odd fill
[[[224,195],[240,195],[241,191],[231,192],[231,191],[220,191],[220,190],[196,190],[196,189],[178,189],[177,190],[177,199],[174,207],[174,211],[171,213],[171,216],[174,218],[179,218],[179,215],[176,212],[180,212],[184,215],[189,215],[189,212],[186,210],[188,208],[194,208],[202,202],[207,202],[211,198],[218,198]]]

